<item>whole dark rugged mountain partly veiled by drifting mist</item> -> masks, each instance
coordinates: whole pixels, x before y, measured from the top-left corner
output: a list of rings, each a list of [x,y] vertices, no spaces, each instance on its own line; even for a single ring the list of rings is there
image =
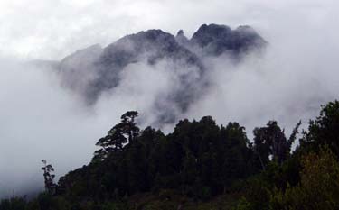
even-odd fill
[[[225,54],[241,59],[243,54],[261,50],[266,44],[250,26],[231,30],[226,25],[203,24],[191,39],[182,30],[175,37],[161,30],[148,30],[127,35],[106,48],[94,45],[78,50],[61,60],[58,72],[65,87],[93,105],[102,93],[119,86],[129,65],[155,67],[166,62],[166,69],[176,80],[175,87],[159,94],[154,106],[161,123],[173,123],[176,115],[184,113],[209,87],[204,58]]]

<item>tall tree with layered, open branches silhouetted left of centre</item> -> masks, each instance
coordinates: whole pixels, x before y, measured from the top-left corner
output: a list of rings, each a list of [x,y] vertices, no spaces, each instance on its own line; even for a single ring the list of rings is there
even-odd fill
[[[135,123],[137,111],[129,111],[121,116],[121,122],[109,130],[105,137],[96,143],[101,147],[94,152],[93,160],[105,160],[109,154],[122,151],[125,144],[133,142],[140,132]]]

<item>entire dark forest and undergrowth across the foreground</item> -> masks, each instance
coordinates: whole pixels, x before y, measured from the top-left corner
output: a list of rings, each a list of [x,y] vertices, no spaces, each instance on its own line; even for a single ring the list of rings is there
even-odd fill
[[[339,102],[322,107],[291,151],[300,123],[286,136],[270,121],[247,138],[239,123],[212,117],[180,121],[164,134],[127,112],[99,139],[87,166],[46,191],[13,197],[0,210],[63,209],[339,209]]]

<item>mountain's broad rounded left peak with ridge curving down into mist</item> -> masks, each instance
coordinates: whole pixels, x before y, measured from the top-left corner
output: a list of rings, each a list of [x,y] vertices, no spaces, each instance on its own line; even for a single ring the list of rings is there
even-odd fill
[[[178,74],[180,86],[169,96],[159,96],[156,106],[167,110],[160,114],[163,121],[173,121],[167,113],[175,113],[176,109],[183,112],[194,100],[199,90],[197,84],[203,83],[202,74],[204,67],[201,60],[190,50],[180,45],[172,34],[161,30],[149,30],[127,35],[126,37],[110,44],[96,62],[99,79],[90,85],[90,96],[98,96],[99,92],[118,86],[120,73],[131,63],[146,62],[155,65],[160,60],[169,62],[173,74],[178,74],[180,68],[192,68],[193,71]],[[195,77],[197,76],[197,77]],[[195,77],[195,78],[193,78]],[[193,79],[192,79],[193,78]],[[187,92],[185,92],[185,91]],[[184,93],[184,94],[183,94]],[[171,103],[164,103],[171,102]]]

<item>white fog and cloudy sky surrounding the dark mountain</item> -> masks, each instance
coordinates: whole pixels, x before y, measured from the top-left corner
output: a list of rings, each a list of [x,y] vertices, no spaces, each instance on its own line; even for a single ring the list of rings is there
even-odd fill
[[[266,51],[238,64],[225,56],[204,59],[212,85],[179,118],[236,121],[250,137],[255,126],[277,120],[289,134],[298,120],[306,126],[320,105],[339,98],[334,1],[33,2],[0,3],[0,196],[41,189],[42,159],[58,177],[89,163],[95,142],[127,110],[139,111],[141,127],[155,122],[156,96],[177,86],[170,61],[139,62],[127,66],[118,87],[87,106],[61,87],[52,69],[28,64],[31,59],[61,59],[150,28],[184,29],[189,36],[202,23],[250,24],[268,41]]]

